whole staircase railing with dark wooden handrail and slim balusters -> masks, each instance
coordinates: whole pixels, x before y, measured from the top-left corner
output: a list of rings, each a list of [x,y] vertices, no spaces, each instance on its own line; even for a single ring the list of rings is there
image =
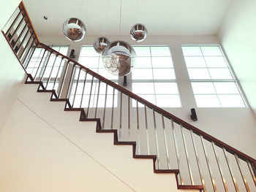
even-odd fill
[[[178,183],[204,191],[256,191],[256,161],[39,42],[20,3],[2,33],[31,81],[69,99],[121,141],[136,141],[139,155],[157,155],[156,168],[178,169]],[[185,188],[185,187],[184,187]]]

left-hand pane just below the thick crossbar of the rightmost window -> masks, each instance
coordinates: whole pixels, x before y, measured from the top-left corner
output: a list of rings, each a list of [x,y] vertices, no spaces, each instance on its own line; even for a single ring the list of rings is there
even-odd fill
[[[212,82],[192,82],[194,94],[215,94]]]

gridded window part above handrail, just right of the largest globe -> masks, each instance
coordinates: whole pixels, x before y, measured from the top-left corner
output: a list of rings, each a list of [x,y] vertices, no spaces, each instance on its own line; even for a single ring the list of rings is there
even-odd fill
[[[132,92],[158,107],[181,107],[168,46],[134,46]],[[133,102],[132,106],[135,106]]]

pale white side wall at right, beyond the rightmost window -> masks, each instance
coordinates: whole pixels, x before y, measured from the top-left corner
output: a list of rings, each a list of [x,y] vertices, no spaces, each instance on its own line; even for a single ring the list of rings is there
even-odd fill
[[[255,18],[256,1],[233,1],[218,37],[256,114]]]

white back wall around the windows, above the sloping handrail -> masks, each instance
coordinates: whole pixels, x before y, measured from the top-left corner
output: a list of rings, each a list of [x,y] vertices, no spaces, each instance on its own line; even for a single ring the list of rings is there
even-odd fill
[[[92,45],[96,37],[86,37],[81,42],[69,42],[64,36],[61,37],[39,37],[41,42],[46,45],[70,45],[70,49],[75,49],[78,60],[80,46]],[[110,37],[110,41],[118,37]],[[192,88],[189,83],[189,76],[186,69],[184,57],[182,55],[181,45],[216,45],[219,44],[217,37],[150,37],[140,43],[133,42],[129,37],[122,37],[131,45],[170,45],[173,55],[173,64],[175,67],[178,90],[181,96],[181,108],[170,108],[167,111],[173,113],[188,123],[200,128],[206,133],[217,137],[228,145],[235,147],[242,152],[256,158],[255,138],[256,138],[256,120],[252,110],[247,108],[197,108]],[[119,81],[120,82],[120,81]],[[131,90],[131,86],[126,88]],[[190,109],[195,107],[198,121],[190,119]]]

